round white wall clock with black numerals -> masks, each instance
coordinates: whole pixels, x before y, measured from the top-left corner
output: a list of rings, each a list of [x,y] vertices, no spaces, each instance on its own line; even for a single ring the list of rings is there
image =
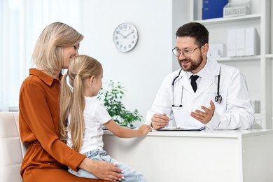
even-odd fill
[[[137,45],[137,29],[130,23],[123,23],[113,32],[113,43],[120,52],[128,52]]]

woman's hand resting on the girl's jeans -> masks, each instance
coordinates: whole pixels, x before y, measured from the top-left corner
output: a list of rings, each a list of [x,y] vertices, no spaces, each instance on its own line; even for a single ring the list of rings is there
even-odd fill
[[[85,169],[87,172],[91,172],[99,179],[109,181],[121,181],[122,179],[125,179],[120,174],[123,173],[123,171],[116,167],[116,164],[112,164],[110,162],[85,158],[78,167]]]

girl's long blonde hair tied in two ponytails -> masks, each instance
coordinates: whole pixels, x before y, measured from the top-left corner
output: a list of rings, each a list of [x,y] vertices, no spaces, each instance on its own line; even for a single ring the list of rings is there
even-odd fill
[[[102,73],[102,64],[87,55],[79,55],[71,59],[69,69],[61,80],[61,93],[59,103],[59,125],[61,139],[66,141],[67,132],[71,132],[72,148],[80,151],[83,146],[83,134],[85,122],[83,111],[85,109],[85,98],[83,95],[86,79],[91,76],[99,77]],[[69,85],[67,83],[69,82]],[[68,127],[68,116],[71,114]]]

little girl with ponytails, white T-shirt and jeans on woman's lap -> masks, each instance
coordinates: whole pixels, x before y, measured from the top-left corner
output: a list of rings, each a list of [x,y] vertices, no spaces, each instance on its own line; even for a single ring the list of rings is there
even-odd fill
[[[134,169],[114,160],[104,151],[102,125],[122,138],[132,138],[151,132],[150,125],[141,125],[138,129],[120,127],[105,107],[94,96],[102,87],[102,64],[86,55],[71,59],[69,69],[61,82],[60,94],[60,132],[61,138],[75,151],[92,160],[104,160],[117,164],[123,170],[123,181],[146,181],[145,177]],[[97,179],[83,169],[78,172],[69,168],[76,176]]]

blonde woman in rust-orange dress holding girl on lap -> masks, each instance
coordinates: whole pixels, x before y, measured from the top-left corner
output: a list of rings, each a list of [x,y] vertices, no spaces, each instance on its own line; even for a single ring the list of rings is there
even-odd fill
[[[36,68],[29,69],[20,89],[20,136],[29,144],[21,166],[24,182],[101,181],[78,178],[67,167],[85,169],[99,179],[123,178],[115,165],[89,160],[59,139],[60,71],[78,56],[82,40],[83,35],[62,22],[48,25],[38,37],[33,52]]]

